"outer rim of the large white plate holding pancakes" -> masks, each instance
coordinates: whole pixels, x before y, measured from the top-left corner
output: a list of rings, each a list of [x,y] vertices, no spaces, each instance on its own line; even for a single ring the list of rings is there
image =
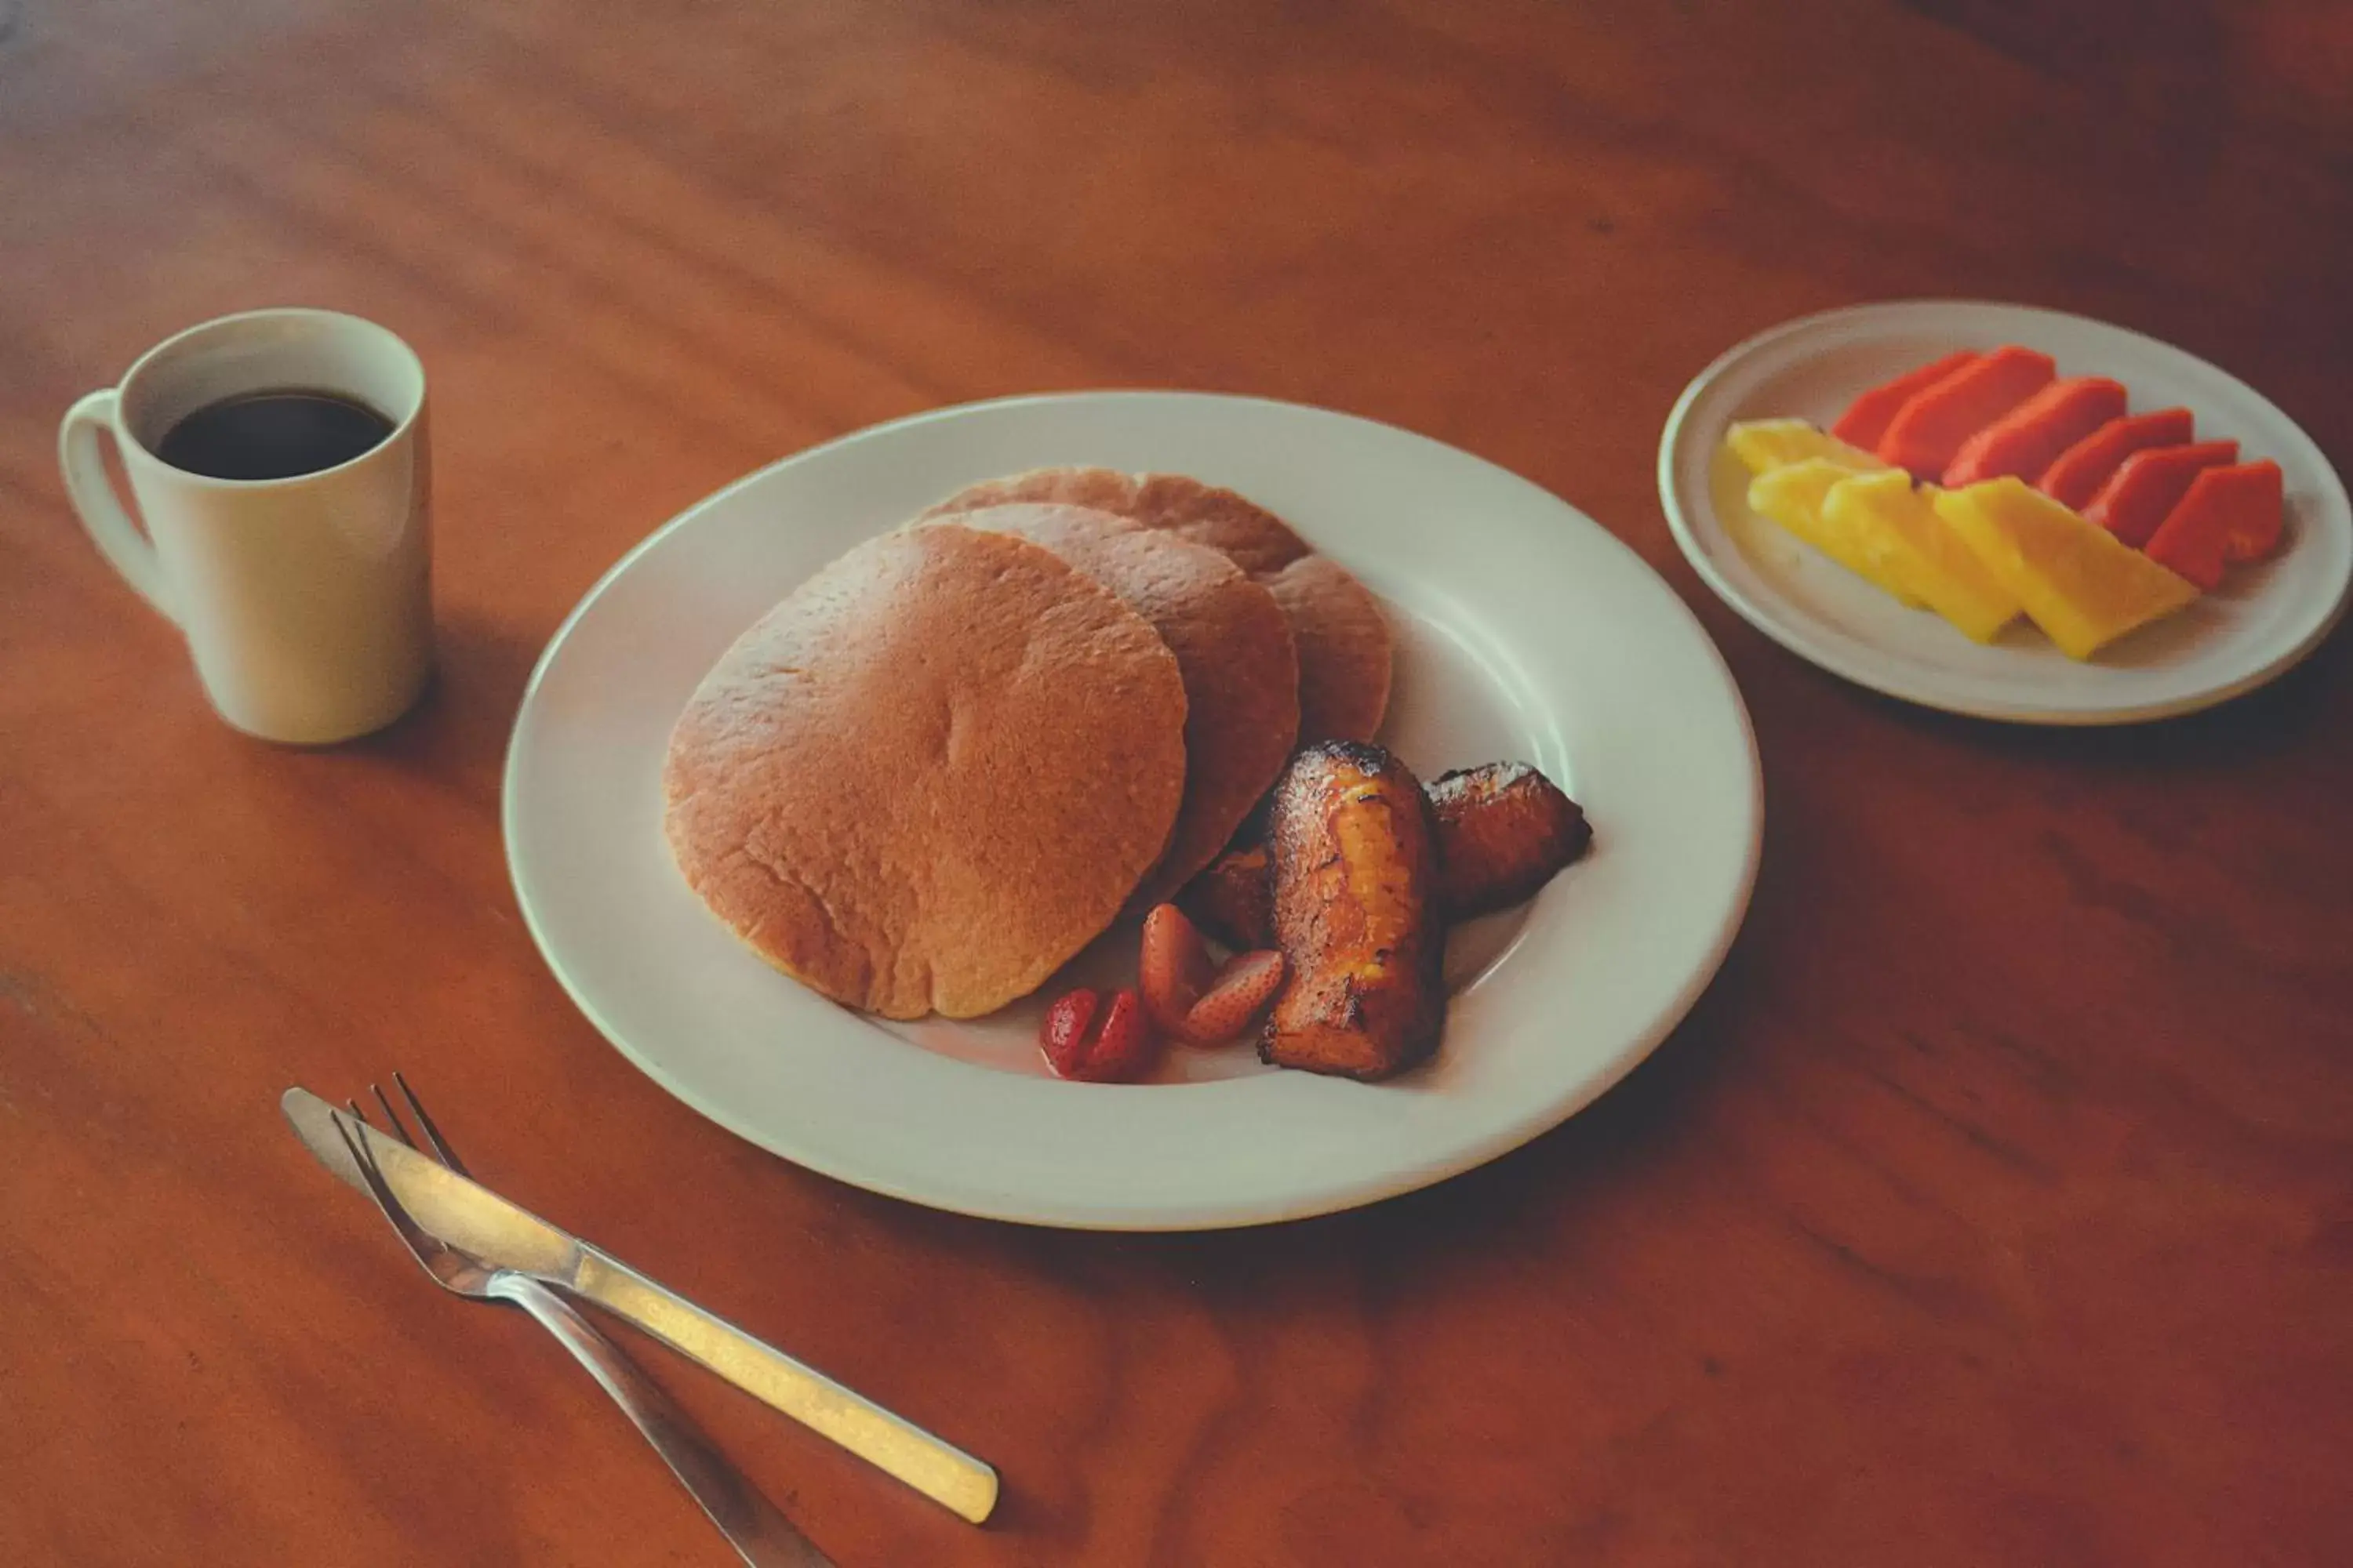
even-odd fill
[[[1732,896],[1725,900],[1725,907],[1722,907],[1722,912],[1718,917],[1718,924],[1708,933],[1708,943],[1704,947],[1704,954],[1699,957],[1699,961],[1694,961],[1694,966],[1689,969],[1689,973],[1682,978],[1682,983],[1675,990],[1675,994],[1659,1006],[1657,1016],[1652,1018],[1652,1023],[1645,1030],[1638,1030],[1635,1034],[1628,1034],[1626,1041],[1605,1063],[1598,1063],[1595,1070],[1588,1072],[1579,1081],[1577,1091],[1572,1091],[1567,1095],[1551,1098],[1551,1100],[1534,1100],[1525,1112],[1504,1119],[1485,1138],[1471,1138],[1471,1140],[1466,1140],[1461,1147],[1452,1150],[1449,1157],[1442,1159],[1442,1161],[1426,1161],[1426,1164],[1419,1164],[1419,1166],[1405,1166],[1405,1164],[1400,1164],[1400,1166],[1391,1166],[1391,1168],[1384,1168],[1384,1171],[1372,1173],[1372,1175],[1355,1175],[1355,1178],[1346,1178],[1346,1180],[1329,1180],[1329,1182],[1301,1185],[1297,1190],[1287,1190],[1287,1194],[1278,1197],[1278,1199],[1165,1204],[1165,1206],[1155,1206],[1148,1213],[1136,1211],[1136,1208],[1122,1208],[1122,1211],[1115,1211],[1115,1213],[1099,1213],[1099,1215],[1045,1213],[1045,1211],[1024,1206],[1019,1201],[1005,1204],[1005,1201],[998,1199],[998,1194],[986,1192],[986,1190],[974,1190],[974,1192],[969,1192],[969,1197],[951,1199],[951,1197],[941,1197],[936,1190],[929,1190],[929,1187],[918,1187],[913,1182],[892,1180],[892,1178],[885,1178],[885,1175],[878,1175],[878,1173],[864,1171],[864,1168],[861,1171],[849,1171],[849,1168],[842,1168],[842,1164],[833,1161],[833,1159],[821,1159],[821,1157],[812,1159],[807,1152],[786,1152],[786,1150],[776,1147],[776,1143],[772,1140],[772,1135],[767,1131],[753,1126],[751,1117],[736,1114],[727,1105],[720,1105],[720,1103],[713,1103],[713,1100],[704,1098],[692,1086],[687,1086],[685,1081],[675,1079],[656,1058],[652,1058],[652,1056],[642,1053],[640,1048],[635,1048],[624,1037],[624,1032],[616,1030],[605,1018],[605,1013],[598,1009],[598,1004],[586,994],[584,985],[569,973],[567,964],[558,957],[558,952],[555,952],[555,947],[553,947],[553,943],[548,938],[548,929],[544,924],[541,910],[534,905],[532,889],[525,884],[525,870],[522,870],[522,865],[518,860],[518,853],[515,853],[518,820],[520,820],[518,769],[520,769],[520,757],[522,757],[522,745],[525,745],[525,731],[534,722],[534,712],[536,712],[536,705],[539,705],[541,684],[546,682],[546,677],[555,668],[555,663],[562,656],[562,651],[565,651],[567,642],[572,639],[574,630],[595,609],[595,604],[635,567],[635,562],[640,557],[645,557],[649,550],[654,550],[673,531],[687,527],[689,522],[694,522],[696,517],[701,517],[711,508],[718,508],[727,496],[732,496],[732,494],[736,494],[736,491],[741,491],[741,489],[746,489],[751,484],[758,484],[758,482],[767,480],[769,475],[774,475],[776,470],[781,470],[786,465],[793,465],[793,463],[800,463],[800,461],[807,461],[807,458],[816,458],[819,454],[835,451],[835,449],[842,449],[842,447],[849,447],[849,444],[859,444],[859,442],[868,442],[868,440],[904,435],[906,430],[913,430],[913,428],[920,428],[920,425],[927,425],[927,423],[934,423],[934,421],[948,421],[948,418],[972,416],[972,414],[981,414],[981,411],[1021,409],[1021,407],[1049,407],[1049,404],[1092,404],[1092,402],[1106,402],[1106,400],[1122,400],[1122,402],[1125,400],[1167,400],[1167,402],[1205,402],[1205,404],[1231,404],[1231,407],[1259,407],[1259,409],[1280,409],[1282,414],[1308,414],[1308,416],[1334,418],[1334,421],[1346,421],[1346,423],[1355,423],[1355,425],[1372,425],[1372,428],[1381,430],[1388,437],[1402,437],[1407,442],[1435,447],[1435,449],[1449,454],[1457,461],[1475,463],[1475,465],[1487,468],[1487,470],[1492,470],[1492,473],[1497,473],[1497,475],[1501,475],[1501,477],[1506,477],[1506,480],[1511,480],[1511,482],[1515,482],[1520,487],[1539,491],[1541,496],[1546,496],[1555,505],[1560,505],[1567,512],[1572,512],[1579,522],[1584,522],[1586,527],[1591,527],[1595,534],[1600,534],[1602,538],[1607,538],[1609,548],[1617,548],[1619,552],[1624,552],[1624,557],[1633,567],[1638,567],[1640,571],[1647,571],[1659,583],[1661,597],[1668,604],[1673,604],[1673,614],[1680,616],[1680,623],[1685,625],[1685,630],[1697,639],[1699,649],[1706,654],[1708,668],[1711,668],[1715,682],[1720,684],[1722,696],[1729,703],[1729,715],[1732,715],[1732,719],[1737,722],[1737,729],[1739,729],[1741,755],[1746,759],[1746,783],[1748,783],[1748,788],[1739,792],[1739,816],[1741,816],[1741,823],[1739,823],[1741,835],[1739,837],[1741,837],[1741,844],[1744,844],[1744,849],[1741,849],[1741,865],[1739,865],[1737,877],[1732,882]],[[1348,411],[1341,411],[1341,409],[1327,409],[1327,407],[1320,407],[1320,404],[1289,402],[1289,400],[1280,400],[1280,397],[1259,397],[1259,395],[1247,395],[1247,393],[1209,393],[1209,390],[1186,390],[1186,388],[1078,388],[1078,390],[1056,390],[1056,393],[1016,393],[1016,395],[1007,395],[1007,397],[984,397],[984,400],[972,400],[972,402],[944,404],[944,407],[934,407],[934,409],[920,409],[915,414],[906,414],[906,416],[889,418],[889,421],[878,421],[878,423],[861,425],[856,430],[842,433],[838,437],[831,437],[831,440],[824,440],[824,442],[814,442],[814,444],[802,447],[798,451],[788,451],[788,454],[774,458],[772,463],[762,463],[760,468],[755,468],[751,473],[744,473],[736,480],[729,480],[727,484],[720,484],[718,489],[708,491],[706,496],[699,496],[696,501],[687,503],[685,508],[680,508],[678,512],[673,512],[668,520],[664,520],[659,527],[654,527],[652,531],[647,531],[633,545],[628,545],[628,550],[624,550],[612,562],[612,567],[607,567],[581,592],[579,602],[574,602],[574,607],[562,616],[562,621],[548,635],[546,646],[539,651],[539,658],[532,663],[529,679],[522,686],[522,696],[518,698],[518,705],[515,705],[515,717],[513,717],[513,722],[508,726],[506,757],[501,762],[499,830],[501,830],[501,849],[504,849],[506,870],[508,870],[508,886],[515,893],[515,903],[518,903],[518,910],[522,912],[525,929],[529,931],[532,943],[539,950],[541,961],[548,966],[548,973],[555,976],[558,985],[565,990],[565,994],[569,997],[572,1006],[579,1009],[579,1013],[598,1030],[598,1034],[614,1051],[619,1051],[619,1056],[631,1067],[635,1067],[638,1072],[642,1072],[645,1077],[649,1077],[664,1093],[668,1093],[671,1098],[675,1098],[678,1103],[682,1103],[687,1110],[696,1112],[706,1121],[718,1124],[727,1133],[732,1133],[732,1135],[751,1143],[753,1147],[758,1147],[758,1150],[762,1150],[762,1152],[767,1152],[767,1154],[772,1154],[776,1159],[784,1159],[784,1161],[795,1164],[795,1166],[800,1166],[805,1171],[814,1171],[819,1175],[826,1175],[828,1180],[838,1180],[838,1182],[845,1182],[849,1187],[859,1187],[864,1192],[875,1192],[875,1194],[882,1194],[882,1197],[892,1197],[892,1199],[899,1199],[899,1201],[918,1204],[918,1206],[925,1206],[925,1208],[936,1208],[936,1211],[944,1211],[944,1213],[960,1213],[960,1215],[969,1215],[969,1218],[1000,1220],[1000,1222],[1014,1222],[1014,1225],[1038,1225],[1038,1227],[1049,1227],[1049,1229],[1087,1229],[1087,1232],[1205,1232],[1205,1229],[1238,1229],[1238,1227],[1254,1227],[1254,1225],[1278,1225],[1278,1222],[1313,1218],[1313,1215],[1322,1215],[1322,1213],[1341,1213],[1341,1211],[1348,1211],[1348,1208],[1360,1208],[1360,1206],[1367,1206],[1367,1204],[1377,1204],[1377,1201],[1384,1201],[1384,1199],[1391,1199],[1391,1197],[1402,1197],[1407,1192],[1417,1192],[1417,1190],[1445,1182],[1445,1180],[1449,1180],[1454,1175],[1461,1175],[1461,1173],[1473,1171],[1478,1166],[1485,1166],[1485,1164],[1489,1164],[1494,1159],[1501,1159],[1504,1154],[1511,1154],[1513,1150],[1532,1143],[1534,1138],[1548,1133],[1551,1128],[1560,1126],[1569,1117],[1579,1114],[1581,1110],[1586,1110],[1588,1105],[1593,1105],[1600,1095],[1609,1093],[1609,1088],[1614,1088],[1619,1081],[1624,1081],[1626,1074],[1631,1074],[1642,1060],[1647,1060],[1659,1048],[1659,1044],[1664,1044],[1664,1039],[1668,1034],[1673,1034],[1675,1027],[1682,1025],[1682,1020],[1692,1013],[1692,1009],[1699,1004],[1699,999],[1706,994],[1706,990],[1715,983],[1715,976],[1722,971],[1722,964],[1729,957],[1732,945],[1739,938],[1741,926],[1746,924],[1748,907],[1751,907],[1751,900],[1753,900],[1753,893],[1755,893],[1755,882],[1758,882],[1760,863],[1762,863],[1762,851],[1765,851],[1765,769],[1762,769],[1762,755],[1760,755],[1758,736],[1755,736],[1755,719],[1748,712],[1748,701],[1741,693],[1739,679],[1732,672],[1729,661],[1725,658],[1722,649],[1715,644],[1715,637],[1708,635],[1706,623],[1699,621],[1699,616],[1692,609],[1692,604],[1682,595],[1678,595],[1673,590],[1673,583],[1668,583],[1664,578],[1664,574],[1657,571],[1657,567],[1652,567],[1647,559],[1642,559],[1642,555],[1633,545],[1628,545],[1614,531],[1609,531],[1598,520],[1593,520],[1588,512],[1584,512],[1581,508],[1577,508],[1572,501],[1553,494],[1551,489],[1537,484],[1534,480],[1527,480],[1525,475],[1518,475],[1518,473],[1504,468],[1501,463],[1494,463],[1494,461],[1489,461],[1489,458],[1485,458],[1485,456],[1480,456],[1475,451],[1468,451],[1468,449],[1457,447],[1452,442],[1445,442],[1440,437],[1424,435],[1419,430],[1409,430],[1405,425],[1395,425],[1395,423],[1388,423],[1388,421],[1381,421],[1381,418],[1369,418],[1369,416],[1362,416],[1362,414],[1348,414]],[[986,1067],[974,1067],[974,1070],[976,1072],[988,1072]],[[1169,1086],[1160,1086],[1160,1088],[1217,1088],[1217,1086],[1219,1084],[1169,1084]],[[1066,1091],[1080,1091],[1080,1093],[1085,1093],[1089,1086],[1085,1086],[1085,1084],[1068,1084],[1064,1088]]]

